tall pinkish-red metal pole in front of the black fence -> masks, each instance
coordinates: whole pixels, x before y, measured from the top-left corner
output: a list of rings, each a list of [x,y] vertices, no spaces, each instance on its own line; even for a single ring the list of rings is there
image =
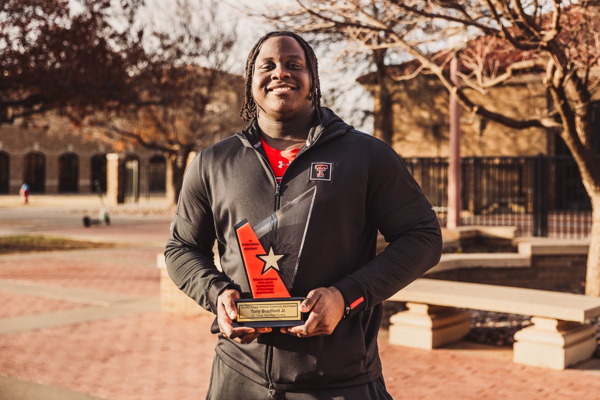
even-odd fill
[[[450,61],[450,78],[458,88],[458,56]],[[446,227],[456,228],[460,223],[461,209],[460,172],[460,104],[454,94],[450,95],[450,148],[448,155],[448,222]]]

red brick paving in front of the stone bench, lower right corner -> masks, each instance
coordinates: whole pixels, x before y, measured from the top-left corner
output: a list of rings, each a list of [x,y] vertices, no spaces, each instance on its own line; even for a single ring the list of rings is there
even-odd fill
[[[395,399],[600,399],[598,374],[553,371],[464,351],[418,350],[379,342]]]

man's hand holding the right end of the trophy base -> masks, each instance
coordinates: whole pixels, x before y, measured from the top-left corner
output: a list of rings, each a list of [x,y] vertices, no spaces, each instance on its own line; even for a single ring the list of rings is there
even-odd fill
[[[318,287],[311,290],[300,305],[302,312],[310,309],[304,325],[281,328],[281,332],[299,338],[330,335],[344,315],[344,297],[335,287]]]

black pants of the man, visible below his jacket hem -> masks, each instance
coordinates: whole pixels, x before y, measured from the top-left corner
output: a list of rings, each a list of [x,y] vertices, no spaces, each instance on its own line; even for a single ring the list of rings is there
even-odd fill
[[[302,392],[273,392],[275,399],[285,400],[392,400],[383,377],[359,386]],[[218,356],[212,362],[211,384],[206,400],[268,400],[269,389],[238,374]]]

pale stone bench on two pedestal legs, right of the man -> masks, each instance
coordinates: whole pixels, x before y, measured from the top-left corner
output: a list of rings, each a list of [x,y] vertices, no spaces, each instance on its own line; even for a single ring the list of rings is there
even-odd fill
[[[455,308],[468,308],[532,316],[533,325],[515,333],[515,363],[565,369],[596,349],[585,321],[600,315],[598,297],[421,278],[389,300],[408,308],[390,318],[392,344],[430,350],[458,341],[469,332],[469,313]]]

